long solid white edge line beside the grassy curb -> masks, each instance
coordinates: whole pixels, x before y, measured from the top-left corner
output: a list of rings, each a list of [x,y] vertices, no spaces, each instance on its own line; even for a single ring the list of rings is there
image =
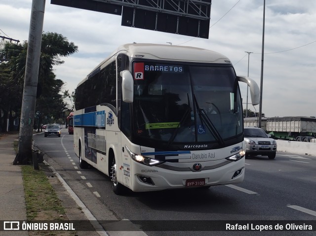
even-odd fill
[[[46,161],[44,161],[46,165],[49,165]],[[66,183],[66,181],[61,177],[61,175],[51,166],[49,166],[49,169],[51,169],[54,174],[56,174],[59,181],[63,184],[64,188],[67,190],[67,192],[70,194],[70,196],[73,198],[73,200],[77,203],[77,205],[81,208],[82,212],[84,213],[85,217],[91,222],[92,226],[100,236],[109,236],[106,231],[104,231],[102,225],[100,225],[97,221],[97,219],[92,215],[91,211],[81,202],[79,197],[75,194],[75,192],[69,187],[69,185]]]

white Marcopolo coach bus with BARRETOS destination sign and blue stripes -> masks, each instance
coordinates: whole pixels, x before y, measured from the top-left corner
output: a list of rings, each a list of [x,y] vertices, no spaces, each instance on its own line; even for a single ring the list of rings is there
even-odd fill
[[[238,81],[258,85],[225,56],[194,47],[125,44],[76,89],[74,147],[80,168],[113,190],[209,187],[244,178]]]

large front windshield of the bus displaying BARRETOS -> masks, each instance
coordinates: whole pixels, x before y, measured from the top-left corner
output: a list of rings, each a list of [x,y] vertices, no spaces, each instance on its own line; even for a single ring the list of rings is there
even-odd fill
[[[135,137],[225,146],[225,140],[242,134],[233,67],[134,62],[133,68]]]

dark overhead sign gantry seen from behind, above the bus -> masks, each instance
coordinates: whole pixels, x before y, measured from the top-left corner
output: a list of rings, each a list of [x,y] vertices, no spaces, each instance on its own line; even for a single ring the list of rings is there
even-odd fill
[[[51,4],[121,15],[121,25],[208,38],[211,0],[51,0]]]

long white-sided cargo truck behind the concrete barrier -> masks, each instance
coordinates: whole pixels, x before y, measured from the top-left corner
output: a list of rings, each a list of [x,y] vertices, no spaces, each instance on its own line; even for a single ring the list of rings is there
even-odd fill
[[[271,117],[266,125],[267,133],[275,139],[310,142],[316,137],[315,117]]]

